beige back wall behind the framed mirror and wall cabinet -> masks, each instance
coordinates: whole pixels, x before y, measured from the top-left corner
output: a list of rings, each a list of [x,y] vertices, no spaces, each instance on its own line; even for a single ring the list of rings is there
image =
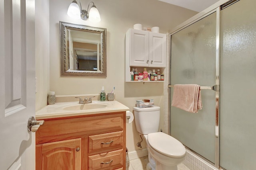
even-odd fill
[[[161,107],[160,129],[168,123],[167,110],[164,108],[164,83],[132,83],[125,82],[125,33],[135,23],[141,23],[143,27],[160,27],[160,33],[167,33],[175,26],[197,14],[178,6],[173,6],[158,0],[94,0],[101,15],[100,23],[74,20],[67,16],[67,9],[72,0],[50,0],[50,55],[42,59],[50,59],[50,91],[56,95],[98,94],[104,86],[106,92],[110,92],[115,86],[116,100],[128,106],[130,111],[136,100],[154,99],[155,105]],[[81,1],[82,8],[86,10],[89,1]],[[59,21],[103,27],[107,29],[107,77],[60,77],[60,31]],[[43,56],[41,56],[43,57]],[[43,62],[45,62],[43,61]],[[166,64],[168,66],[168,63]],[[37,63],[37,71],[41,62]],[[48,80],[47,74],[40,74],[40,81]],[[167,84],[168,82],[165,82]],[[166,86],[165,86],[166,88]],[[38,89],[37,102],[45,105],[47,92]],[[44,96],[44,101],[38,100]],[[40,109],[42,104],[37,104]],[[140,141],[134,122],[127,124],[126,146],[129,151],[138,150],[136,143]],[[165,127],[166,129],[166,127]],[[142,143],[146,148],[145,143]]]

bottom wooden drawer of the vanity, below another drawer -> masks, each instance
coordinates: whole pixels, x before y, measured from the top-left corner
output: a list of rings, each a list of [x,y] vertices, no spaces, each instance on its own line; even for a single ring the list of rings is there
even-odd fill
[[[89,156],[89,170],[114,170],[123,167],[123,149]]]

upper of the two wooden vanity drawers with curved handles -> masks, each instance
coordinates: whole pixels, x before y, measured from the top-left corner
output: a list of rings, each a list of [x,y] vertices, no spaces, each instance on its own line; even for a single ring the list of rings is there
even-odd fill
[[[97,154],[123,148],[123,131],[89,136],[89,153]]]

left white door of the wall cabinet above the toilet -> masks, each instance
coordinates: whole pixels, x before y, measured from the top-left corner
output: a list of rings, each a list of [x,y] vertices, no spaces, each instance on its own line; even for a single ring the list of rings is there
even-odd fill
[[[130,65],[148,66],[149,33],[138,29],[130,29]]]

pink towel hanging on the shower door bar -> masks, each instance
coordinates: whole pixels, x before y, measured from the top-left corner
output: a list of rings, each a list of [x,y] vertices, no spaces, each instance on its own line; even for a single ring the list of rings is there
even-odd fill
[[[197,84],[175,84],[172,106],[197,113],[202,109],[201,90]]]

